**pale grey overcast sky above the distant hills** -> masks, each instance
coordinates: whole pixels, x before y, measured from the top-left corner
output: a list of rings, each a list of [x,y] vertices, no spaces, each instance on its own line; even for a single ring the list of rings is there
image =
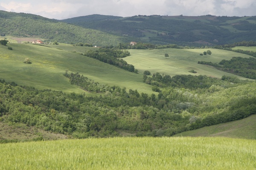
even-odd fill
[[[0,10],[54,19],[90,14],[255,16],[256,0],[0,0]]]

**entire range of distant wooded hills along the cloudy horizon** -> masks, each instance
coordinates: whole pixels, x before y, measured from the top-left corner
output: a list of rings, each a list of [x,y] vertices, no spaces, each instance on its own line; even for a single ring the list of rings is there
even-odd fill
[[[54,20],[33,14],[0,11],[0,35],[41,37],[44,42],[92,44],[224,45],[256,41],[255,17],[216,17],[212,15],[115,17],[89,15]],[[235,23],[235,24],[234,24]],[[233,31],[235,30],[235,31]]]

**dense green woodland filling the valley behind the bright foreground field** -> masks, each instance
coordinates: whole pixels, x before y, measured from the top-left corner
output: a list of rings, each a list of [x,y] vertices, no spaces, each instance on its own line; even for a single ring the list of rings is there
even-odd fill
[[[79,73],[71,78],[72,74],[66,73],[71,83],[83,80]],[[182,79],[188,82],[202,78],[205,77]],[[179,82],[185,85],[182,79]],[[172,136],[255,114],[255,85],[250,81],[230,83],[229,79],[216,79],[211,86],[193,90],[168,86],[158,96],[104,85],[103,93],[92,97],[37,90],[1,80],[0,120],[74,138],[119,136],[120,131],[137,136]]]

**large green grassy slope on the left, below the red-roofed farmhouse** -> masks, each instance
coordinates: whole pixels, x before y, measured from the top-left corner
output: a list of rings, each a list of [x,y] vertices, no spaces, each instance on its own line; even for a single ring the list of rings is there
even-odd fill
[[[127,89],[151,93],[151,86],[142,82],[140,74],[124,71],[96,59],[61,50],[65,48],[71,51],[71,48],[78,47],[67,48],[65,45],[55,45],[55,48],[49,48],[13,43],[9,43],[8,46],[13,50],[8,50],[7,46],[0,45],[0,79],[9,82],[14,81],[19,85],[28,85],[39,89],[84,92],[80,88],[70,85],[69,79],[63,76],[68,70],[73,73],[79,72],[79,74],[101,84],[119,85]],[[86,48],[84,47],[84,49]],[[32,64],[23,63],[27,57]]]

